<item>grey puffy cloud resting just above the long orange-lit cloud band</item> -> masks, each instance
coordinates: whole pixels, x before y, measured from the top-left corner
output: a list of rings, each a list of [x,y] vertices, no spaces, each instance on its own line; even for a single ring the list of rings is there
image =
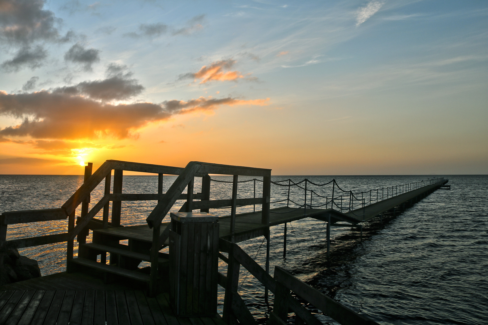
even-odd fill
[[[124,100],[139,95],[144,87],[137,79],[131,79],[132,73],[127,66],[115,63],[109,64],[106,71],[107,78],[103,80],[83,81],[75,86],[55,88],[53,93],[67,95],[84,95],[102,101]]]

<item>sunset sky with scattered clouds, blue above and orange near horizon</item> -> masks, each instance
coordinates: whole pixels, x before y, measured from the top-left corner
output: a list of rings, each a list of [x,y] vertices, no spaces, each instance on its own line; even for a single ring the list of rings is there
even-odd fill
[[[0,174],[487,174],[488,2],[0,0]]]

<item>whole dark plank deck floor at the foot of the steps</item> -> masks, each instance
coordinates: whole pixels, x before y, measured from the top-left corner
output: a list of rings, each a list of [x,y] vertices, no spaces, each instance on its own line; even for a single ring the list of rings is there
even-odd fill
[[[56,273],[0,287],[0,324],[223,325],[222,318],[178,317],[166,294],[150,298],[122,282]]]

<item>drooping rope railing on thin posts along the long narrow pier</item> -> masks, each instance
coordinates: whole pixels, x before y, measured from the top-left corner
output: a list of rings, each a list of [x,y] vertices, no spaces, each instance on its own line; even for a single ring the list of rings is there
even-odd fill
[[[443,181],[444,178],[430,178],[427,180],[420,180],[417,182],[405,183],[400,185],[393,185],[389,187],[383,187],[379,189],[369,190],[369,191],[360,191],[360,192],[353,192],[353,191],[346,191],[339,184],[335,179],[332,179],[326,183],[318,184],[315,183],[307,178],[301,181],[293,181],[291,178],[279,180],[279,181],[271,181],[271,184],[285,187],[287,188],[285,193],[282,193],[286,196],[286,198],[272,201],[271,204],[282,203],[286,201],[286,207],[290,207],[292,204],[296,209],[317,209],[325,207],[332,208],[339,210],[341,212],[350,212],[353,215],[356,215],[353,210],[361,209],[366,207],[367,205],[371,205],[373,203],[377,203],[391,197],[404,194],[409,191],[417,190],[426,185],[432,185],[438,182]],[[211,181],[219,182],[219,183],[232,183],[232,181],[225,181],[225,180],[218,180],[218,179],[211,179]],[[246,183],[246,182],[254,182],[254,197],[256,197],[256,181],[263,182],[261,179],[252,178],[247,180],[238,181],[238,183]],[[318,192],[316,189],[310,189],[310,186],[316,187],[324,187],[326,185],[332,184],[332,195],[327,195],[322,192]],[[295,188],[298,191],[301,191],[302,194],[292,193],[290,190],[291,188]],[[335,195],[334,193],[342,193],[340,195]],[[304,197],[303,203],[297,203],[296,200],[292,199],[292,197],[298,198],[300,196]],[[319,202],[313,204],[313,199],[315,202],[317,200]],[[323,202],[325,199],[325,203]],[[254,211],[256,210],[256,205],[254,204]],[[289,213],[288,212],[279,212],[279,211],[270,211],[271,213]],[[357,215],[360,216],[360,215]]]

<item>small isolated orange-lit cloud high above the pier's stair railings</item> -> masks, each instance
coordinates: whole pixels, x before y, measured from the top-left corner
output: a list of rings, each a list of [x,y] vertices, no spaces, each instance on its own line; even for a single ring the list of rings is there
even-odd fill
[[[239,71],[225,71],[230,70],[232,66],[236,63],[236,60],[227,59],[221,60],[217,62],[212,62],[209,66],[204,65],[198,72],[196,73],[187,73],[180,75],[178,80],[192,78],[195,79],[202,79],[200,84],[206,83],[212,80],[231,80],[237,81],[238,79],[246,79],[246,80],[257,80],[257,78],[249,77],[248,75],[243,76]]]

